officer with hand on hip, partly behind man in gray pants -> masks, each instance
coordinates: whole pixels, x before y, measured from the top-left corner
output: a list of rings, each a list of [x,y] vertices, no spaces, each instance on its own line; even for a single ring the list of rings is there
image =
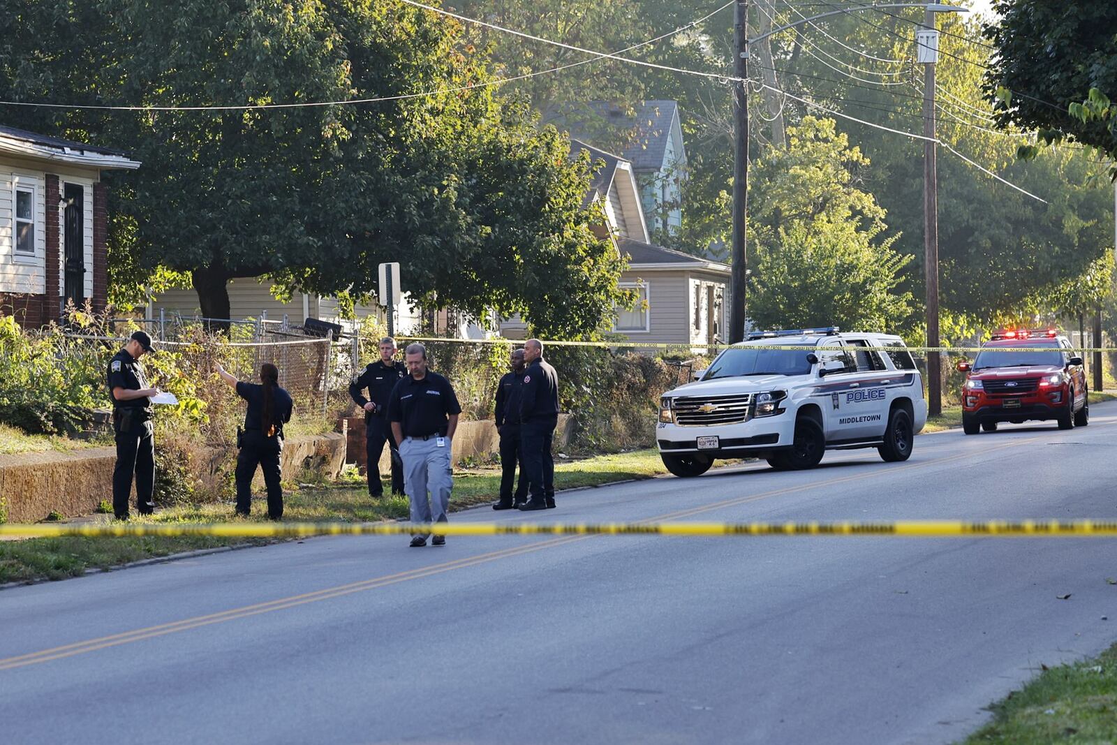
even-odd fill
[[[403,461],[392,437],[391,422],[388,421],[388,399],[392,389],[407,375],[402,364],[395,362],[395,340],[385,336],[380,340],[380,361],[371,363],[350,385],[350,395],[359,407],[364,409],[364,446],[367,455],[369,496],[373,498],[384,495],[380,483],[380,455],[384,443],[392,460],[392,494],[403,494]],[[369,398],[362,391],[369,389]]]

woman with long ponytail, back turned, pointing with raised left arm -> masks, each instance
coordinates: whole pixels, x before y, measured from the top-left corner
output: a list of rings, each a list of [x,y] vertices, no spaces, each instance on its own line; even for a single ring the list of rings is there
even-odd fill
[[[283,451],[283,426],[290,421],[294,402],[279,388],[279,369],[270,362],[260,365],[259,383],[242,383],[225,371],[217,373],[237,395],[248,402],[245,431],[238,431],[237,447],[237,514],[248,517],[252,506],[252,477],[256,467],[264,469],[268,489],[268,517],[283,517],[283,488],[279,485],[279,453]]]

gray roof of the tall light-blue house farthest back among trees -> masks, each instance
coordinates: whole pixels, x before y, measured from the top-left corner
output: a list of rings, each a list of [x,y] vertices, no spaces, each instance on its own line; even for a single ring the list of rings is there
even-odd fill
[[[632,115],[607,101],[591,101],[584,105],[593,116],[609,123],[610,128],[627,133],[629,140],[620,154],[637,171],[659,171],[667,159],[667,141],[674,131],[680,149],[679,160],[686,161],[682,130],[679,124],[679,105],[674,101],[645,101],[634,107]],[[572,137],[586,139],[576,116],[564,117]]]

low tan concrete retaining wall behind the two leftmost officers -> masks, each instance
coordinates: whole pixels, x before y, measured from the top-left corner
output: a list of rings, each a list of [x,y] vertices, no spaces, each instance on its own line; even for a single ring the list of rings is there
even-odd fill
[[[236,457],[235,451],[213,455],[211,475],[219,472],[217,462]],[[304,468],[336,478],[344,465],[345,438],[341,434],[293,438],[284,443],[280,467],[285,479],[297,479]],[[0,456],[0,500],[8,510],[8,522],[34,523],[51,510],[66,517],[92,514],[103,499],[113,500],[115,466],[114,447]],[[231,468],[231,462],[228,467]],[[264,477],[257,470],[254,485],[259,488],[262,484]]]

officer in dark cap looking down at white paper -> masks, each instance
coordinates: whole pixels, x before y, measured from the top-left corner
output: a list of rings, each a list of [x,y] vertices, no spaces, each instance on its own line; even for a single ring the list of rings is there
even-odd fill
[[[147,388],[140,357],[153,351],[151,337],[142,331],[132,334],[124,348],[108,363],[108,397],[113,401],[113,429],[116,432],[116,468],[113,470],[113,514],[128,518],[132,477],[136,481],[136,510],[155,510],[155,439],[152,431],[151,397],[157,388]]]

